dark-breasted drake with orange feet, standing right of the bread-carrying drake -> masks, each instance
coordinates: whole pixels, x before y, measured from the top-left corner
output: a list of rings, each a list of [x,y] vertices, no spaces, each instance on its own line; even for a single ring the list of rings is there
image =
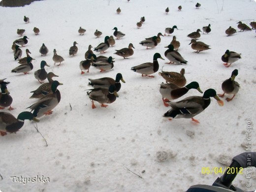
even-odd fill
[[[225,94],[233,94],[233,96],[231,98],[226,98],[226,101],[231,101],[235,95],[238,93],[240,85],[239,83],[237,83],[235,81],[235,77],[238,75],[238,70],[235,69],[232,71],[231,77],[229,79],[224,80],[224,82],[222,83],[222,90],[223,90],[223,94],[219,94],[218,96],[220,97],[224,97]]]

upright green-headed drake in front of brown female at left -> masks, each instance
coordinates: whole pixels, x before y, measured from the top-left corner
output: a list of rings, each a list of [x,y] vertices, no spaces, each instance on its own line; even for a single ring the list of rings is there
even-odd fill
[[[42,117],[43,115],[51,115],[59,102],[61,101],[61,93],[57,89],[59,85],[63,85],[59,81],[53,81],[51,89],[52,94],[41,97],[37,102],[29,106],[34,117]]]

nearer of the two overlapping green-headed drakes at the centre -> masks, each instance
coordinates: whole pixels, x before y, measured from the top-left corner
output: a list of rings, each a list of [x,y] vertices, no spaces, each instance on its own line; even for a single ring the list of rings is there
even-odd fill
[[[87,95],[92,100],[92,108],[95,109],[96,106],[94,101],[101,103],[101,107],[107,107],[104,103],[113,103],[118,97],[116,87],[110,85],[109,88],[95,88],[90,89],[90,92],[87,92]]]

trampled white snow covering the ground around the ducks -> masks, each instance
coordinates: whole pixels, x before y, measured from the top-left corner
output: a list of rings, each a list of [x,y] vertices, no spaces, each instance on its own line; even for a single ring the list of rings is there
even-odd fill
[[[30,99],[30,92],[39,87],[33,72],[45,60],[50,67],[47,72],[59,75],[55,80],[62,98],[53,110],[53,114],[43,116],[37,123],[26,121],[16,134],[7,134],[0,138],[0,190],[2,192],[184,192],[195,184],[212,185],[222,174],[202,174],[203,167],[228,166],[232,157],[243,153],[247,141],[247,118],[251,117],[252,126],[255,112],[255,50],[256,34],[239,32],[237,22],[249,25],[254,21],[256,3],[253,0],[207,0],[201,1],[201,7],[195,8],[194,0],[44,0],[36,1],[25,7],[0,7],[1,34],[1,70],[0,79],[7,78],[10,95],[13,97],[11,111],[15,117],[26,111],[36,102]],[[178,6],[182,5],[182,11]],[[165,8],[170,11],[165,14]],[[116,9],[120,7],[121,13]],[[30,18],[25,24],[23,17]],[[145,23],[137,29],[136,23],[145,16]],[[187,34],[211,24],[212,32],[202,34],[200,41],[210,45],[211,49],[196,54],[189,45]],[[176,25],[179,30],[161,37],[160,44],[146,50],[139,42],[146,37],[164,34],[167,27]],[[86,29],[79,35],[79,27]],[[226,36],[229,27],[237,33]],[[40,30],[38,35],[33,28]],[[90,72],[81,75],[80,61],[91,44],[96,47],[104,41],[106,35],[113,35],[112,29],[126,33],[124,38],[116,39],[116,44],[105,54],[115,58],[114,68],[100,73],[90,67]],[[13,59],[12,42],[21,38],[17,29],[25,29],[24,35],[29,43],[22,48],[31,51],[34,68],[28,74],[11,73],[18,66]],[[103,34],[96,38],[97,30]],[[202,30],[201,30],[202,31]],[[169,62],[164,51],[173,35],[181,42],[179,53],[188,64],[164,64]],[[68,55],[73,41],[78,43],[78,53]],[[41,56],[39,48],[44,43],[49,53]],[[123,59],[114,55],[115,49],[135,47],[134,55]],[[64,57],[64,62],[54,65],[53,49]],[[242,59],[226,68],[221,61],[225,50],[242,53]],[[93,49],[92,49],[93,50]],[[164,79],[155,73],[155,78],[141,77],[130,70],[132,66],[152,62],[153,55],[160,53],[165,59],[158,60],[160,70],[179,72],[186,70],[187,83],[197,81],[202,91],[213,88],[222,94],[221,84],[231,72],[239,71],[236,81],[241,88],[230,102],[224,100],[219,106],[211,99],[210,106],[195,116],[200,124],[190,119],[174,119],[162,115],[169,109],[165,107],[159,93],[160,83]],[[159,70],[159,71],[160,71]],[[119,97],[108,107],[92,109],[92,103],[85,90],[89,78],[112,77],[121,72],[126,83],[122,83]],[[45,81],[46,82],[46,81]],[[187,96],[202,96],[191,90]],[[225,96],[226,97],[226,96]],[[225,98],[224,97],[224,98]],[[230,97],[230,96],[229,96]],[[71,106],[71,107],[70,107]],[[9,112],[7,109],[1,110]],[[255,130],[252,131],[252,146],[255,150]],[[226,165],[220,163],[225,162]],[[254,169],[255,170],[255,169]],[[246,169],[233,182],[245,191],[256,189],[256,173],[247,179]],[[139,176],[137,176],[137,175]],[[50,182],[12,182],[11,177],[49,177]],[[18,181],[18,180],[17,180]],[[252,187],[246,187],[251,182]]]

